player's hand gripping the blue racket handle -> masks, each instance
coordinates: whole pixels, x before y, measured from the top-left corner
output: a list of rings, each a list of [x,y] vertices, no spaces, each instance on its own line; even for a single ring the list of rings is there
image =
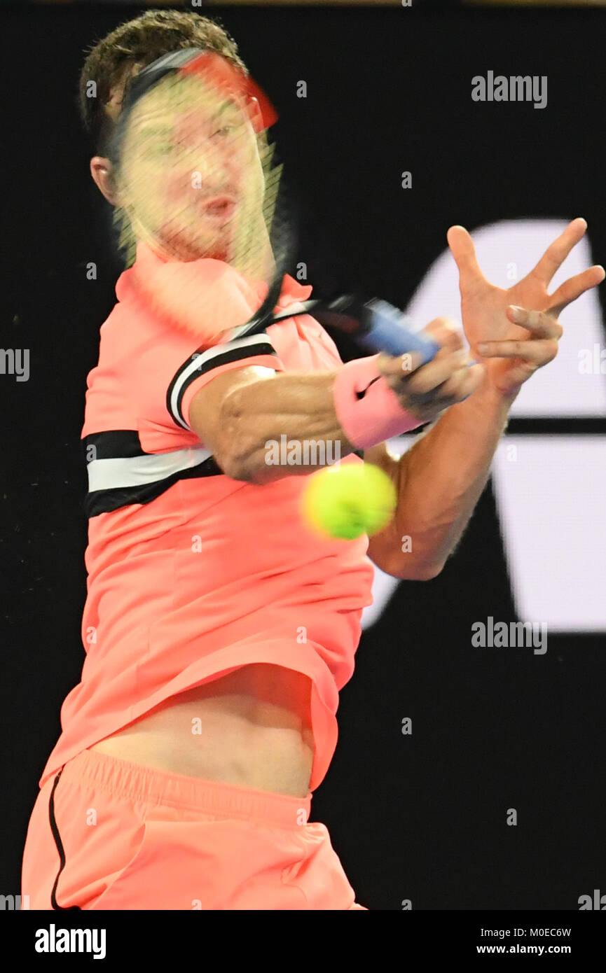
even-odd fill
[[[448,317],[436,317],[424,328],[439,351],[431,362],[421,365],[421,355],[393,357],[383,352],[377,368],[398,395],[402,408],[424,422],[433,421],[444,409],[463,402],[484,376],[483,365],[470,366],[462,334]]]

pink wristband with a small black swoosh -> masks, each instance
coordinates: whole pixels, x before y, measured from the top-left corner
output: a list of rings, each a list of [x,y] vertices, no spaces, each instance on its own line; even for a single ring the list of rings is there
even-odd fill
[[[357,450],[368,450],[391,436],[423,425],[423,419],[402,409],[398,396],[377,369],[378,357],[348,362],[334,380],[334,409],[339,425]],[[361,399],[358,392],[364,393]]]

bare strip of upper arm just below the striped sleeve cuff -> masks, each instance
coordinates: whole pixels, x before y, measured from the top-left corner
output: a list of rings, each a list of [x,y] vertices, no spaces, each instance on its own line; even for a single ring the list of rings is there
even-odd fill
[[[236,388],[275,375],[274,369],[247,365],[217,375],[194,394],[189,406],[190,428],[210,450],[219,466],[224,465],[229,450],[223,421],[223,403],[227,396]]]

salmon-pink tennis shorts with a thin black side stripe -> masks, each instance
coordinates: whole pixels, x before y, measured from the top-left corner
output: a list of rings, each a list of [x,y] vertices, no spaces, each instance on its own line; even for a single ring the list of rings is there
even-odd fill
[[[84,750],[38,794],[21,894],[30,909],[364,909],[310,808]]]

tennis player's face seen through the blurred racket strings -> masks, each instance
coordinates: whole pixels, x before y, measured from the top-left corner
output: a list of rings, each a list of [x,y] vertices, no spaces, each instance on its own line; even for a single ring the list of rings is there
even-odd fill
[[[133,108],[117,187],[136,240],[180,261],[236,262],[262,222],[264,187],[244,106],[168,76]]]

